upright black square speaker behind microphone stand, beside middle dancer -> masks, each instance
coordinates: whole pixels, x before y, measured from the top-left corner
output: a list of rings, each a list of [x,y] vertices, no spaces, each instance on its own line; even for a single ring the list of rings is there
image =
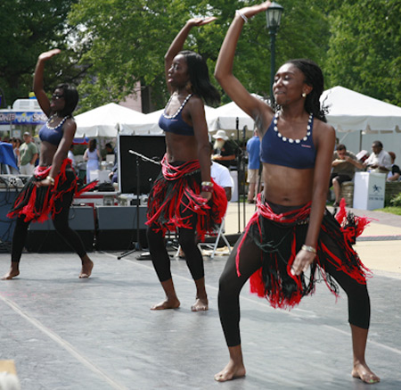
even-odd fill
[[[148,162],[135,154],[160,162],[166,153],[165,137],[160,136],[124,136],[119,135],[119,191],[122,194],[137,194],[136,159],[139,162],[139,193],[149,194],[153,181],[160,174],[161,166]]]

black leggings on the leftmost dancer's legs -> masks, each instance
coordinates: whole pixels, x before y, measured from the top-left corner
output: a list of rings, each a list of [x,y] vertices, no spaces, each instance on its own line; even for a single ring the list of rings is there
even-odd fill
[[[54,215],[53,225],[60,236],[82,259],[86,255],[85,246],[77,232],[69,226],[70,205],[73,195],[72,192],[66,193],[62,195],[62,199],[55,201],[55,208],[58,212]],[[25,222],[24,219],[25,215],[20,216],[14,229],[12,236],[12,261],[20,261],[22,249],[27,239],[30,222]]]

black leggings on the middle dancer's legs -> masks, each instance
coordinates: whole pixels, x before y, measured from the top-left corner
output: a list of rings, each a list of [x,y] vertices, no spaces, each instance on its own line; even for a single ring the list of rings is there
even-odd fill
[[[178,228],[178,243],[185,253],[185,260],[191,272],[193,280],[198,280],[205,276],[203,268],[203,258],[201,251],[196,244],[196,223],[197,214],[192,213],[192,228]],[[160,282],[165,282],[171,278],[170,258],[166,249],[166,243],[161,231],[155,232],[154,226],[147,228],[147,239],[151,262],[156,270]]]

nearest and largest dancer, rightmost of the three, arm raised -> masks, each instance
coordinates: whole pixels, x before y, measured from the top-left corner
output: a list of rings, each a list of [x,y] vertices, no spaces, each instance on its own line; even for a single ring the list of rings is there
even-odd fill
[[[230,360],[217,381],[245,375],[240,337],[241,287],[250,278],[251,290],[274,307],[292,307],[314,291],[315,274],[338,294],[348,295],[353,338],[352,376],[366,383],[380,379],[368,368],[364,352],[370,320],[367,270],[345,232],[325,210],[335,133],[324,123],[319,97],[323,74],[308,60],[286,62],[274,78],[274,111],[250,95],[233,76],[233,57],[241,29],[270,2],[235,13],[217,59],[216,78],[225,92],[257,123],[265,188],[258,195],[258,212],[251,218],[223,271],[218,306]],[[347,220],[342,214],[340,220]],[[345,217],[345,218],[344,218]],[[357,220],[358,232],[364,220]],[[350,234],[349,234],[350,236]],[[304,272],[310,270],[309,281]],[[337,283],[336,283],[337,282]]]

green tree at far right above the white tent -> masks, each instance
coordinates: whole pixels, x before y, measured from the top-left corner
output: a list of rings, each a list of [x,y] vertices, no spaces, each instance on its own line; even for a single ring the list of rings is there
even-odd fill
[[[325,68],[340,85],[401,105],[401,2],[344,1],[331,11]]]

